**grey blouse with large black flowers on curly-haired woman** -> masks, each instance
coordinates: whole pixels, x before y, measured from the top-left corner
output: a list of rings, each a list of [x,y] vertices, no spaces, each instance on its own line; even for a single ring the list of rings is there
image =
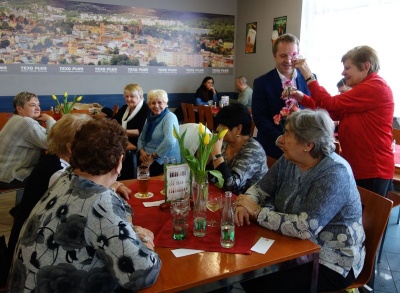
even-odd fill
[[[161,260],[127,221],[131,213],[110,188],[68,168],[21,230],[10,291],[98,293],[154,284]]]

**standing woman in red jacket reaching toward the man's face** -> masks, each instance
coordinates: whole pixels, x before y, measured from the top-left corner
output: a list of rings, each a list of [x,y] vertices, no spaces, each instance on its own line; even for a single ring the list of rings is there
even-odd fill
[[[394,172],[393,94],[378,75],[379,59],[371,47],[351,49],[343,55],[342,63],[350,90],[331,96],[315,80],[307,63],[300,61],[295,66],[306,79],[311,97],[298,90],[292,90],[291,95],[303,104],[315,103],[340,121],[342,156],[353,169],[357,185],[386,196]]]

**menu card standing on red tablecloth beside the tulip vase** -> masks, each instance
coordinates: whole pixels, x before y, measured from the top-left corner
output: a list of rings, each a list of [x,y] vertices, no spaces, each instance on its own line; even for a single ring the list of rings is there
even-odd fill
[[[190,193],[190,169],[188,164],[167,164],[164,170],[165,201],[182,198]]]

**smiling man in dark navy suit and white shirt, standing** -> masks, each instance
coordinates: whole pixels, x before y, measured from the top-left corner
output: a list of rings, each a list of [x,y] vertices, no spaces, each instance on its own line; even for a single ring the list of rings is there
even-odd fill
[[[283,134],[283,129],[274,123],[273,117],[285,106],[285,101],[281,99],[283,84],[291,81],[292,86],[310,93],[303,76],[293,68],[292,58],[298,52],[299,40],[291,34],[281,35],[272,46],[276,67],[254,80],[251,108],[258,129],[257,140],[267,156],[274,159],[282,155],[275,141]]]

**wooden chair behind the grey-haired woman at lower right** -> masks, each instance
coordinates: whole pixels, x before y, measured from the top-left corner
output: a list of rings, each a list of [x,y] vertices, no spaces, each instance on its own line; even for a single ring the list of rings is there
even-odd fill
[[[376,252],[381,242],[383,232],[389,220],[392,210],[392,201],[367,189],[357,187],[360,192],[361,204],[363,208],[362,221],[365,231],[365,261],[364,267],[358,278],[347,289],[366,287],[372,274]],[[371,289],[371,288],[369,288]]]

